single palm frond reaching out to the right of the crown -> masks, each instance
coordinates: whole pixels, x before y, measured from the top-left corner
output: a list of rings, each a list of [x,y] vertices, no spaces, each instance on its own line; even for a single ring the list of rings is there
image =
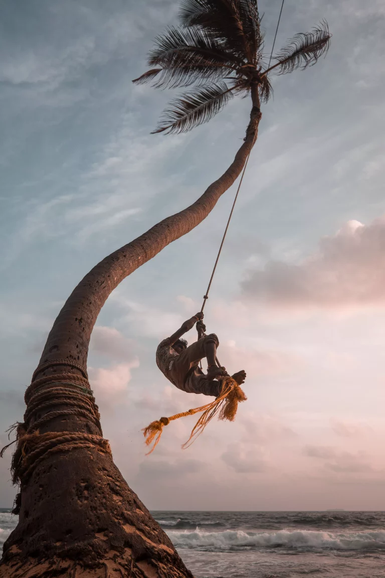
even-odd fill
[[[312,28],[310,32],[296,34],[279,53],[278,60],[271,69],[278,68],[279,74],[293,72],[297,68],[304,70],[326,54],[330,46],[331,34],[326,20]]]

